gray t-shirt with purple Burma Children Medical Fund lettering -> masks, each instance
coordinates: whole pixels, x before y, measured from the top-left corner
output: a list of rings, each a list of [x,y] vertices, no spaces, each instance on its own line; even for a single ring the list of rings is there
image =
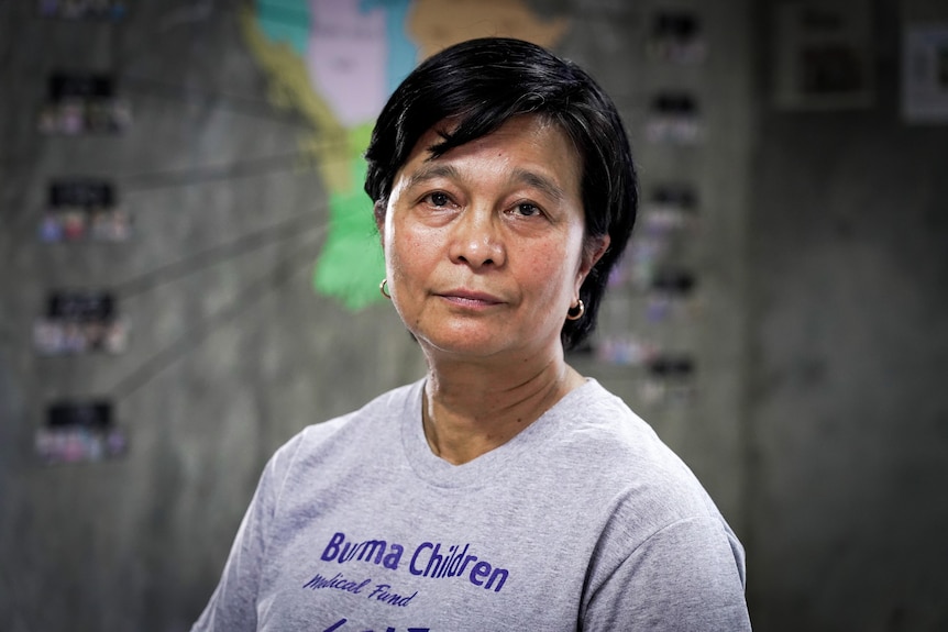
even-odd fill
[[[598,382],[460,466],[422,389],[277,451],[194,632],[750,630],[740,543]]]

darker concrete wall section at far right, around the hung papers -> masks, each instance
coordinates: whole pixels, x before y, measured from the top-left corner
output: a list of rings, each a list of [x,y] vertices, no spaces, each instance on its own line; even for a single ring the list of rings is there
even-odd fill
[[[902,27],[872,2],[874,102],[774,107],[760,8],[750,212],[750,590],[768,631],[948,625],[948,125],[901,115]]]

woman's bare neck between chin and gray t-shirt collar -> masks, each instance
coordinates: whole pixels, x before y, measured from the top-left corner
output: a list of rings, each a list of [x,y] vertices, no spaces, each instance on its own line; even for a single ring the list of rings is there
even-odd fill
[[[582,384],[562,352],[518,369],[429,358],[425,436],[441,458],[467,463],[510,441]]]

